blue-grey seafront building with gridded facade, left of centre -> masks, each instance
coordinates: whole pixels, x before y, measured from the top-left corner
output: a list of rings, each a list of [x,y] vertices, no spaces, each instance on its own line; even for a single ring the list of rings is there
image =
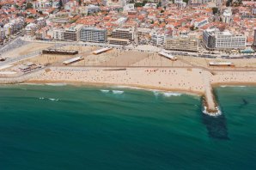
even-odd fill
[[[104,43],[107,41],[107,30],[97,27],[82,27],[80,38],[85,42]]]

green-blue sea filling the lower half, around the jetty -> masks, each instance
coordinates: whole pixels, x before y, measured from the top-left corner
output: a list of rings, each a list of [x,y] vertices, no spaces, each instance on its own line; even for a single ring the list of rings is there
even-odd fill
[[[198,96],[64,84],[0,86],[1,170],[256,169],[256,88]]]

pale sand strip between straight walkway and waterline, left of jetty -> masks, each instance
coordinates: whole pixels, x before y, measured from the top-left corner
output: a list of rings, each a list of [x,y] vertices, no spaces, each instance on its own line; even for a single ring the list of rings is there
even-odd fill
[[[154,88],[203,94],[204,86],[198,69],[150,69],[128,68],[54,68],[28,82],[81,82],[93,84],[113,84]],[[196,81],[193,81],[196,80]]]

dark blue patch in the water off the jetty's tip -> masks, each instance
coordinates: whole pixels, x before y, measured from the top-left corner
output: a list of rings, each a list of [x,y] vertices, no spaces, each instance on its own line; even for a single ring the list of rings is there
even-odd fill
[[[202,120],[210,138],[229,140],[227,120],[223,113],[219,116],[213,117],[202,112]]]

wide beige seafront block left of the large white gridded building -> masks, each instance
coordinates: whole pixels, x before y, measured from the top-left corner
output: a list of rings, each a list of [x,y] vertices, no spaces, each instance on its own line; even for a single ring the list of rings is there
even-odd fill
[[[189,39],[184,37],[167,38],[165,49],[180,52],[198,52],[198,39]]]

